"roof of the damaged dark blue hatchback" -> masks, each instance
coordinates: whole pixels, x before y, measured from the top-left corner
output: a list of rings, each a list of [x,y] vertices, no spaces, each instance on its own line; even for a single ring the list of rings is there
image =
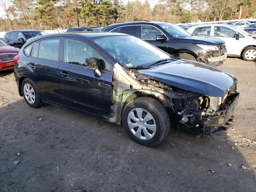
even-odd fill
[[[96,38],[96,37],[105,37],[105,36],[130,36],[122,33],[114,33],[114,32],[97,32],[97,31],[89,31],[89,32],[64,32],[64,33],[53,33],[47,34],[43,36],[37,36],[34,38],[30,38],[27,40],[28,43],[34,42],[40,39],[49,38],[49,37],[73,37],[73,38]]]

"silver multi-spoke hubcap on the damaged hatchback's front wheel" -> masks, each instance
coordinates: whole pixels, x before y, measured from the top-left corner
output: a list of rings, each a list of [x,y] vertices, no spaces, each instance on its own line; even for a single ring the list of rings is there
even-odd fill
[[[132,134],[141,140],[149,140],[156,134],[156,122],[147,110],[142,108],[131,110],[127,122]]]

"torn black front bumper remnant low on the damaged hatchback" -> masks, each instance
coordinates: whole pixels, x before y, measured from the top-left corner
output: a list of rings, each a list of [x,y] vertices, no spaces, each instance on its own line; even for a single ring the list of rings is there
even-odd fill
[[[238,104],[239,93],[232,95],[233,99],[229,102],[225,110],[217,112],[214,116],[202,117],[204,134],[210,134],[212,130],[216,130],[228,122],[230,117],[234,114],[235,108]]]

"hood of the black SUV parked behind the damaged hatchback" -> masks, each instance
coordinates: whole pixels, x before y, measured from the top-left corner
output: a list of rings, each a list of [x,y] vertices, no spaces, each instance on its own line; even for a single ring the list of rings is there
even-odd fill
[[[217,38],[210,38],[210,37],[202,37],[202,36],[189,36],[182,38],[184,40],[189,40],[189,42],[193,42],[196,44],[204,44],[204,45],[219,45],[224,44],[225,42],[223,40],[217,39]]]

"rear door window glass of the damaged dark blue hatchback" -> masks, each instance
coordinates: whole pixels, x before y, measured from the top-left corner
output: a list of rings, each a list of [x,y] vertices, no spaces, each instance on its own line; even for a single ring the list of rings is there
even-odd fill
[[[58,61],[60,38],[41,40],[38,58]]]

